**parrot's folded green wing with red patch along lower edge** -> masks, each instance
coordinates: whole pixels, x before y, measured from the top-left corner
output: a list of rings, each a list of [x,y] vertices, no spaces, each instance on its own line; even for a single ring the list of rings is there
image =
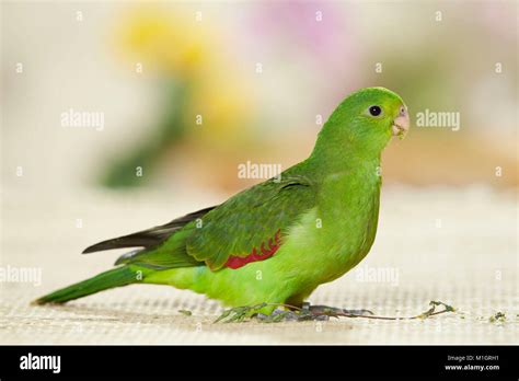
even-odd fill
[[[290,227],[314,205],[315,186],[307,177],[272,178],[215,208],[188,215],[189,222],[181,229],[176,220],[170,222],[175,230],[168,231],[166,238],[162,227],[154,228],[160,233],[158,244],[126,253],[115,264],[155,269],[200,265],[214,270],[239,268],[274,255]],[[145,236],[152,230],[146,230]]]

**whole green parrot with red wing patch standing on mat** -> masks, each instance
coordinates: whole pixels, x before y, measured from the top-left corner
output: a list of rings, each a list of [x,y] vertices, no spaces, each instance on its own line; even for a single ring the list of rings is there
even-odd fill
[[[272,316],[279,307],[327,316],[331,308],[304,301],[368,254],[377,232],[381,153],[408,128],[407,108],[394,92],[354,92],[332,113],[307,160],[218,206],[85,249],[139,247],[115,268],[35,303],[142,282],[189,289],[241,311],[256,307],[256,316]]]

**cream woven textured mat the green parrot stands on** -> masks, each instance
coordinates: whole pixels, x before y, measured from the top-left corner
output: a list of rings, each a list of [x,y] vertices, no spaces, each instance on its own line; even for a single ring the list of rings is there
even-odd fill
[[[222,309],[191,291],[129,286],[64,307],[30,301],[111,266],[118,253],[81,256],[88,244],[151,227],[218,201],[96,193],[3,194],[0,343],[9,344],[501,344],[518,343],[516,194],[483,187],[383,189],[367,258],[320,287],[312,303],[410,316],[430,300],[455,313],[426,320],[212,324]],[[173,205],[174,204],[174,205]],[[168,207],[166,207],[168,206]],[[28,273],[27,269],[34,273]],[[14,279],[25,273],[25,279]],[[38,272],[41,278],[38,278]],[[31,275],[32,274],[32,275]],[[186,316],[178,310],[189,310]],[[498,313],[503,313],[500,315]],[[497,314],[497,316],[496,316]],[[497,318],[497,319],[496,319]]]

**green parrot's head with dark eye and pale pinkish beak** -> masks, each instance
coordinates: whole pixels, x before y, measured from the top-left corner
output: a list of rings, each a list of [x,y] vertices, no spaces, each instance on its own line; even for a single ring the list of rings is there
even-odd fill
[[[384,88],[361,89],[346,97],[324,125],[318,146],[362,155],[380,155],[392,136],[410,129],[404,101]]]

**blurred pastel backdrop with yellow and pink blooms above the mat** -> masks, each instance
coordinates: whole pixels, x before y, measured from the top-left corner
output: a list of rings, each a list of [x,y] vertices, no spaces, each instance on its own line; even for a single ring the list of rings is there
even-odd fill
[[[230,193],[254,182],[237,163],[301,161],[320,118],[382,85],[413,118],[461,117],[390,146],[387,183],[517,186],[516,5],[5,3],[3,180]],[[62,126],[70,109],[103,128]]]

